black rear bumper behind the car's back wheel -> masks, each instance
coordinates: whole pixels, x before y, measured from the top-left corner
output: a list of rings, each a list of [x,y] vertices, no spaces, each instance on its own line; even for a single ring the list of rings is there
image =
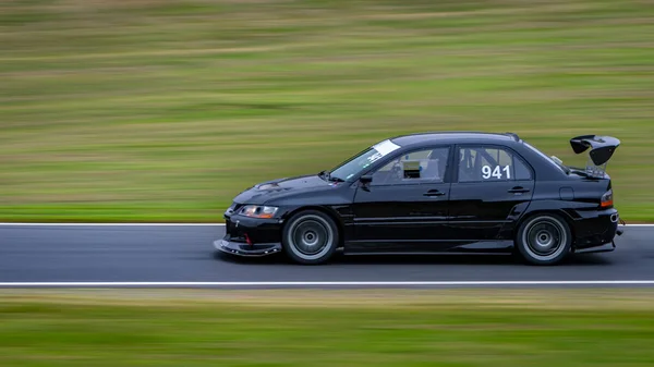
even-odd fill
[[[615,237],[621,235],[618,229],[620,216],[615,208],[584,212],[582,218],[574,221],[576,253],[611,252],[616,248]]]

